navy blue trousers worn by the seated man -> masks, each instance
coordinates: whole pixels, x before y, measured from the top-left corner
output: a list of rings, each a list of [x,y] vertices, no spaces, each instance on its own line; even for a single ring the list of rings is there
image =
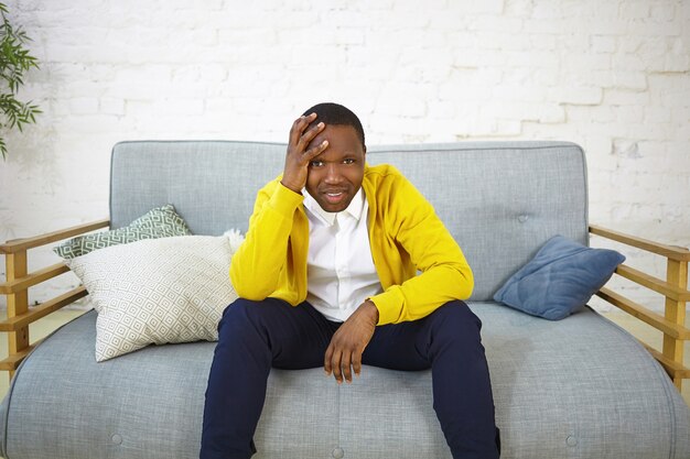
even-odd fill
[[[228,306],[206,390],[201,458],[250,458],[271,367],[323,367],[339,326],[309,303],[292,307],[274,298],[239,298]],[[431,369],[433,407],[455,459],[499,456],[481,328],[467,305],[451,302],[422,319],[376,327],[362,356],[367,365]]]

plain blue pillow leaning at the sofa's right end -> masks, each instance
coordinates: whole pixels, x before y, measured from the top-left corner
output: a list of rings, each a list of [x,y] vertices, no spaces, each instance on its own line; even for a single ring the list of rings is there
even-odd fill
[[[560,320],[583,307],[624,261],[615,250],[591,249],[557,236],[510,276],[494,299],[532,316]]]

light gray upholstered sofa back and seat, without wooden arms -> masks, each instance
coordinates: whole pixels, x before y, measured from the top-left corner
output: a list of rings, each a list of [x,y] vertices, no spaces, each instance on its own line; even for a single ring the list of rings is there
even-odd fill
[[[284,145],[123,142],[111,163],[110,226],[173,204],[198,234],[246,230]],[[587,243],[586,164],[565,142],[369,147],[434,205],[475,274],[504,458],[690,458],[689,408],[664,369],[590,308],[563,320],[493,302],[552,236]],[[0,409],[9,459],[195,458],[213,342],[152,346],[96,363],[96,313],[23,361]],[[257,458],[450,458],[431,373],[365,367],[338,386],[322,369],[273,370]],[[238,414],[241,415],[241,414]]]

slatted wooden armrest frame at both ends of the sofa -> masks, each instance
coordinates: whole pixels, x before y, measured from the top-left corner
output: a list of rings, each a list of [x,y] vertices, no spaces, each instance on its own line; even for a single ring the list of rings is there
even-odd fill
[[[8,334],[9,341],[9,356],[0,361],[0,370],[9,371],[10,380],[21,361],[37,345],[37,342],[31,343],[30,341],[29,325],[88,294],[84,286],[79,286],[30,308],[29,287],[66,273],[69,269],[63,263],[57,263],[29,273],[28,251],[106,228],[109,225],[109,220],[105,219],[33,238],[8,241],[0,245],[0,253],[4,254],[7,264],[7,280],[0,284],[0,294],[7,295],[8,309],[7,319],[0,321],[0,331]],[[686,248],[665,245],[599,226],[590,226],[590,233],[666,258],[666,280],[660,280],[625,264],[619,265],[616,270],[617,275],[664,295],[666,298],[664,315],[657,314],[606,287],[602,288],[597,295],[664,334],[664,346],[660,352],[645,342],[643,345],[661,363],[680,391],[683,379],[690,379],[690,369],[683,365],[684,341],[690,340],[690,329],[684,325],[686,304],[690,300],[690,292],[688,292],[690,251]]]

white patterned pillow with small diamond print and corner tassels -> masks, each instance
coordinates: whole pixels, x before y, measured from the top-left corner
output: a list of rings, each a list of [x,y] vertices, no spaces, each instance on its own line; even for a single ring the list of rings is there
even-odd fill
[[[241,241],[238,232],[148,239],[66,260],[98,312],[96,361],[217,340],[223,310],[237,298],[228,270]]]

